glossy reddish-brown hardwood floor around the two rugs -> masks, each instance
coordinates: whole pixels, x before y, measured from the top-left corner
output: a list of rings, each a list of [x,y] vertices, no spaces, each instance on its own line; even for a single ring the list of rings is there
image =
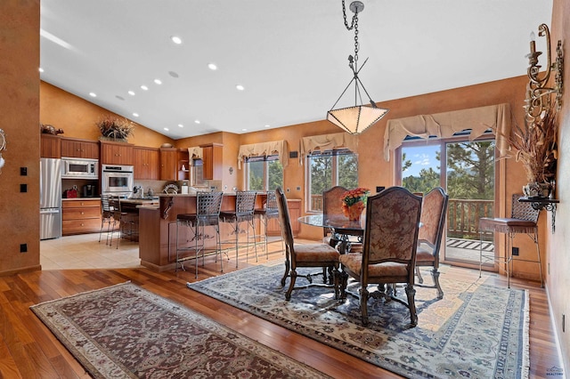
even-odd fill
[[[219,323],[231,327],[237,332],[264,343],[281,351],[293,359],[305,362],[322,372],[338,378],[400,377],[373,366],[360,359],[345,354],[336,349],[317,343],[312,339],[297,335],[289,330],[278,327],[263,319],[237,310],[218,302],[206,295],[190,291],[186,282],[195,281],[194,271],[152,272],[142,267],[110,268],[108,256],[110,247],[104,242],[97,243],[99,235],[89,235],[86,240],[92,240],[85,248],[93,254],[95,245],[100,246],[105,268],[89,268],[74,270],[42,270],[28,272],[9,277],[0,277],[0,378],[87,378],[89,375],[71,354],[58,342],[51,332],[29,310],[29,306],[38,302],[46,302],[63,296],[77,294],[104,286],[110,286],[131,280],[155,294],[160,294],[175,302],[197,310],[215,319]],[[91,238],[91,239],[89,239]],[[65,249],[66,243],[74,245],[77,238],[61,238],[57,244]],[[71,243],[73,242],[73,244]],[[44,241],[43,241],[44,242]],[[42,242],[42,243],[43,243]],[[75,245],[74,245],[75,246]],[[124,249],[135,249],[131,244],[122,244]],[[269,261],[283,261],[281,243],[271,244],[269,258],[259,252],[256,263],[253,254],[249,253],[248,263],[245,262],[245,251],[240,252],[240,269],[251,264],[261,264]],[[71,247],[70,247],[71,248]],[[77,246],[75,247],[77,249]],[[121,247],[119,246],[119,249]],[[77,249],[77,254],[81,254]],[[117,249],[114,248],[114,251]],[[273,252],[272,252],[273,250]],[[233,254],[231,264],[224,264],[226,272],[236,270]],[[216,265],[213,257],[207,258],[206,267],[199,270],[198,280],[219,275],[219,263]],[[118,262],[117,267],[125,263]],[[132,262],[126,263],[131,265]],[[476,270],[445,267],[447,278],[478,277]],[[506,286],[506,279],[493,275],[489,283]],[[561,367],[558,359],[558,349],[550,323],[549,306],[544,289],[533,282],[511,278],[511,286],[525,288],[530,294],[530,359],[531,378],[546,377],[551,367]]]

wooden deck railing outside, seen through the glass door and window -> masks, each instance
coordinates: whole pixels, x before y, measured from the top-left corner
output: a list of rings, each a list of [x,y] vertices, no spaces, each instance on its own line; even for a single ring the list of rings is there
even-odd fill
[[[450,198],[447,206],[447,237],[479,238],[479,219],[493,217],[493,200]],[[322,211],[322,195],[311,195],[311,209]]]

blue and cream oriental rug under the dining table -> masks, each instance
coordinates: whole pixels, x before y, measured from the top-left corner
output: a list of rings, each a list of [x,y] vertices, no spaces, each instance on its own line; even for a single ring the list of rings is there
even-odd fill
[[[282,265],[255,266],[187,286],[405,377],[528,377],[524,290],[485,285],[483,279],[451,281],[442,274],[442,300],[435,289],[415,286],[417,327],[410,327],[406,307],[383,299],[369,300],[369,325],[362,327],[358,300],[348,295],[345,302],[335,301],[332,288],[295,290],[285,301],[289,279],[281,287],[283,271]],[[424,276],[431,280],[428,272]],[[297,277],[297,286],[304,280]],[[403,288],[397,293],[405,296]]]

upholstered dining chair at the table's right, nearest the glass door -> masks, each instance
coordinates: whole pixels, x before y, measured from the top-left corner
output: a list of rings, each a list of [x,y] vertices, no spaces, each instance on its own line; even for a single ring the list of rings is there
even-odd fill
[[[445,227],[445,215],[447,212],[447,195],[443,188],[436,187],[423,197],[421,205],[421,216],[419,222],[421,227],[418,233],[418,252],[416,254],[416,276],[418,285],[437,289],[437,298],[444,297],[444,291],[439,284],[439,250],[442,244]],[[420,267],[431,267],[431,277],[433,286],[423,284]]]

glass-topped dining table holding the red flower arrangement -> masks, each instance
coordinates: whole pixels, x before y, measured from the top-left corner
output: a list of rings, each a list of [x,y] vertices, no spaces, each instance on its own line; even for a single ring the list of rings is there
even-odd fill
[[[365,217],[360,220],[348,220],[343,214],[308,214],[298,218],[298,221],[320,228],[329,228],[332,231],[331,240],[340,254],[350,253],[351,237],[362,243]]]

